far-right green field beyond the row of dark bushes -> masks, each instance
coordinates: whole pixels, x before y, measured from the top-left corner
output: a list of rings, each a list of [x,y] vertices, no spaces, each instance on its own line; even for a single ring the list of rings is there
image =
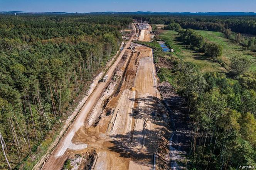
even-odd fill
[[[234,56],[248,56],[253,61],[250,70],[252,72],[256,72],[256,52],[246,50],[243,46],[239,45],[239,43],[227,39],[224,33],[203,30],[195,31],[205,37],[210,42],[215,42],[223,46],[223,53],[221,59],[225,63],[229,64],[229,60]]]

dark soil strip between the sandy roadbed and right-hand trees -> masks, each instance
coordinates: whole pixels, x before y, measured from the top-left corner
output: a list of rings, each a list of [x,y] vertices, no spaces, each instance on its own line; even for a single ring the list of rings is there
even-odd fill
[[[170,138],[171,168],[173,170],[187,169],[186,155],[190,152],[192,137],[190,127],[192,123],[188,117],[188,108],[184,98],[180,97],[168,82],[158,83],[158,90],[169,112],[170,126],[173,131]]]

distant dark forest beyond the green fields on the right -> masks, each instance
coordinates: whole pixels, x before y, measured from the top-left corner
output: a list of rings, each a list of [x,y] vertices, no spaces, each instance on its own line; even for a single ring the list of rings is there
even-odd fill
[[[133,17],[139,19],[141,17]],[[256,19],[254,16],[142,16],[152,24],[179,23],[184,29],[209,30],[225,33],[226,37],[235,40],[249,50],[256,50]]]

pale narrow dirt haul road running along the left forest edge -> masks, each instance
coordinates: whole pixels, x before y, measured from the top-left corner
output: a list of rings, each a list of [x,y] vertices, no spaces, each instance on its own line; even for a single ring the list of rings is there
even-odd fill
[[[134,30],[136,30],[135,26],[133,25]],[[44,163],[42,169],[43,170],[49,170],[49,169],[60,169],[60,165],[62,165],[66,159],[66,155],[64,153],[67,151],[67,149],[83,149],[86,148],[86,143],[75,145],[71,142],[72,138],[74,137],[74,134],[84,125],[84,121],[86,120],[87,116],[93,110],[95,104],[97,103],[99,97],[104,92],[105,88],[109,85],[111,82],[111,78],[113,76],[113,72],[120,62],[123,54],[125,53],[125,50],[130,46],[131,41],[133,40],[133,37],[136,32],[133,33],[133,36],[130,38],[130,40],[126,43],[125,47],[121,51],[118,58],[116,58],[116,61],[113,63],[113,65],[109,68],[106,75],[108,75],[108,80],[106,83],[99,83],[95,90],[91,93],[88,100],[86,100],[84,106],[81,108],[80,112],[77,114],[76,118],[74,119],[74,122],[70,127],[68,128],[67,132],[64,134],[64,136],[61,138],[60,142],[57,144],[56,148],[52,151],[52,154],[48,157],[46,162]],[[62,163],[63,162],[63,163]],[[34,169],[40,169],[40,166],[35,166]]]

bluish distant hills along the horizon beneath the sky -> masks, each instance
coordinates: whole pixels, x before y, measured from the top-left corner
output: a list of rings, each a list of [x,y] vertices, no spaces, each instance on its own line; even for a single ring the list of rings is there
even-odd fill
[[[68,12],[23,12],[23,11],[8,11],[0,12],[5,15],[24,15],[24,14],[87,14],[87,15],[256,15],[255,12],[85,12],[85,13],[68,13]]]

